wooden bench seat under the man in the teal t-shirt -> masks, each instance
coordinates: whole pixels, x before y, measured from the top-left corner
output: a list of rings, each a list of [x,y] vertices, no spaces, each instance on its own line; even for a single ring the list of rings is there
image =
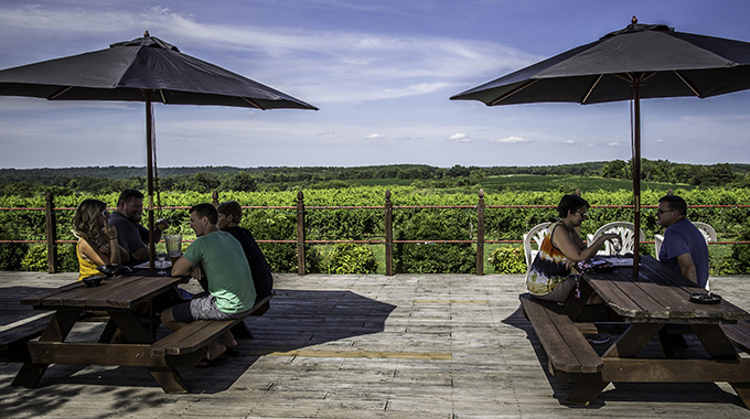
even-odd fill
[[[274,294],[270,294],[256,302],[247,315],[262,315],[268,310],[272,297]],[[151,354],[158,357],[183,358],[183,362],[173,359],[172,363],[193,366],[203,359],[210,342],[229,330],[234,332],[234,327],[240,324],[245,324],[244,319],[197,320],[151,344]],[[201,356],[195,356],[196,353]]]

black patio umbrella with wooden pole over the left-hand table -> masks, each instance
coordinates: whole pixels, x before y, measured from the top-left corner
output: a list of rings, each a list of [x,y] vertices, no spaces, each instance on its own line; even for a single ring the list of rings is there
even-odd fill
[[[47,100],[144,101],[149,230],[153,229],[152,103],[318,110],[260,83],[183,54],[148,32],[143,37],[111,44],[107,50],[0,71],[0,95]],[[153,244],[153,237],[149,241]],[[150,248],[153,269],[153,246]]]

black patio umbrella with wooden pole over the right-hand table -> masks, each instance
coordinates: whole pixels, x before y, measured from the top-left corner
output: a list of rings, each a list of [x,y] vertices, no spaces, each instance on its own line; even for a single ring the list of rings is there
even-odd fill
[[[750,43],[632,24],[590,44],[474,87],[451,100],[488,106],[633,100],[633,201],[641,228],[641,98],[722,95],[750,88]],[[639,255],[634,253],[633,275]]]

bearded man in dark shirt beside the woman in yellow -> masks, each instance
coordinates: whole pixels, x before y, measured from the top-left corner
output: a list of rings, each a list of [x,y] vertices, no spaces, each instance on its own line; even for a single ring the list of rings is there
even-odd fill
[[[125,190],[117,200],[117,210],[109,216],[109,224],[118,232],[118,240],[128,254],[133,265],[149,260],[148,228],[140,225],[143,216],[143,194],[137,190]],[[167,228],[165,221],[159,221],[153,228],[153,239],[158,243],[161,232]]]

